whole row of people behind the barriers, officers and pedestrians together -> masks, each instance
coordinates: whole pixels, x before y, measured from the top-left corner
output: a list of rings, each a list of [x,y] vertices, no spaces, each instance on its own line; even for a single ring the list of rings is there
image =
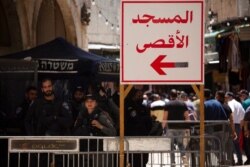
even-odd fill
[[[78,86],[72,99],[65,102],[55,96],[52,80],[44,79],[41,91],[42,97],[37,97],[37,89],[28,87],[24,102],[16,110],[21,135],[119,135],[118,90],[111,95],[104,88],[86,91]],[[224,120],[230,124],[231,144],[237,155],[234,164],[250,164],[249,92],[241,90],[234,94],[218,90],[213,95],[205,89],[204,98],[205,121]],[[169,136],[171,149],[177,146],[183,164],[188,166],[185,149],[189,141],[185,143],[179,136],[190,135],[190,127],[185,122],[199,121],[200,105],[196,95],[184,91],[172,89],[162,94],[133,88],[124,102],[125,135]],[[213,134],[214,130],[206,129],[205,133]],[[246,162],[243,162],[243,153],[247,156]],[[131,162],[132,166],[146,166],[148,154],[135,154]],[[175,164],[174,154],[171,154],[171,163]]]

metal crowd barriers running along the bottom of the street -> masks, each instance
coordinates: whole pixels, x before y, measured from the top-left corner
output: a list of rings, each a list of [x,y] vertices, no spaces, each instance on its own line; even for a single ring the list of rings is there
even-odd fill
[[[228,127],[226,122],[205,124],[205,166],[231,165]],[[176,137],[125,137],[124,166],[199,167],[199,125],[187,132]],[[185,163],[176,139],[185,146]],[[119,167],[119,137],[2,136],[0,148],[1,167]]]

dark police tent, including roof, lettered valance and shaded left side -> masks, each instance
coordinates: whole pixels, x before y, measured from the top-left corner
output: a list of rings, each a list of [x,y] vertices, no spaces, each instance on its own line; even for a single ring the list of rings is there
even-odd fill
[[[118,81],[119,62],[86,52],[62,38],[0,56],[0,122],[1,113],[10,120],[15,118],[25,88],[38,86],[44,77],[53,79],[56,96],[68,101],[75,86],[87,89],[90,84],[98,87],[98,81]]]

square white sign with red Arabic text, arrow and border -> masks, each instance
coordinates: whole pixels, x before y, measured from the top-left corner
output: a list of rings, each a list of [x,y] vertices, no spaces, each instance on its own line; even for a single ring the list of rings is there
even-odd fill
[[[122,0],[122,84],[204,84],[203,0]]]

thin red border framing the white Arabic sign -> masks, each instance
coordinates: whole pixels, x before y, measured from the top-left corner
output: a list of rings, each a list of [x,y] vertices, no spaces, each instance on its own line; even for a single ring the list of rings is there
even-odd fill
[[[201,78],[198,80],[124,80],[124,4],[125,3],[201,3],[202,9],[201,9]],[[121,65],[120,65],[120,73],[121,73],[121,82],[124,84],[130,84],[130,83],[137,83],[137,84],[141,84],[141,83],[156,83],[156,84],[160,84],[160,83],[165,83],[166,82],[170,82],[170,83],[179,83],[179,84],[185,84],[185,83],[199,83],[199,84],[204,84],[204,1],[122,1],[122,28],[121,28]]]

